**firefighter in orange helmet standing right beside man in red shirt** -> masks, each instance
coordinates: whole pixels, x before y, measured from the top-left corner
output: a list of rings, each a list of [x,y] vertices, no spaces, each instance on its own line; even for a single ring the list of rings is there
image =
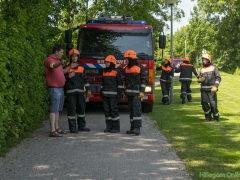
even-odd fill
[[[70,65],[78,63],[80,53],[77,49],[71,49],[68,53]],[[67,116],[70,133],[78,133],[78,131],[90,131],[86,127],[85,121],[85,96],[84,88],[86,89],[86,98],[91,96],[90,86],[86,78],[84,68],[78,65],[77,68],[70,68],[65,75],[66,78],[66,94],[67,94]],[[77,112],[77,122],[75,117]]]

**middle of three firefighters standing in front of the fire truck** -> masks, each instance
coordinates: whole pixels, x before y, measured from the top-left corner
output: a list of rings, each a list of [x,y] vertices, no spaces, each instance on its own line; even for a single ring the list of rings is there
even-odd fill
[[[120,132],[120,119],[118,114],[118,100],[122,94],[122,74],[115,68],[116,58],[113,55],[106,56],[103,70],[100,95],[103,99],[106,129],[104,132]]]

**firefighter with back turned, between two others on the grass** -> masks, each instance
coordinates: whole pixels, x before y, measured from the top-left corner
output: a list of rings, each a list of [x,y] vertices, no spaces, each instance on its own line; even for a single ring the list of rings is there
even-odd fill
[[[181,95],[182,104],[185,104],[185,97],[187,96],[188,102],[192,102],[192,91],[191,91],[191,83],[192,83],[192,73],[198,78],[198,73],[194,66],[190,64],[189,58],[185,56],[183,58],[183,63],[179,66],[178,69],[175,70],[176,73],[180,72],[179,81],[181,82]]]

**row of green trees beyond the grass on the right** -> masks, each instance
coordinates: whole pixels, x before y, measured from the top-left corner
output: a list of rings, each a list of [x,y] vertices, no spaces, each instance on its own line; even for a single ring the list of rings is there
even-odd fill
[[[240,66],[239,10],[238,0],[197,0],[189,25],[174,35],[175,54],[184,55],[183,33],[188,32],[188,55],[193,62],[206,49],[215,64],[234,73]]]

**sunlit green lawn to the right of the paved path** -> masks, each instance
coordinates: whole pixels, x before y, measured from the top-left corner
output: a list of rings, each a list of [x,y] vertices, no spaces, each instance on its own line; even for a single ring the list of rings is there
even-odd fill
[[[218,109],[220,122],[205,123],[201,108],[200,85],[193,80],[191,89],[193,102],[181,104],[180,82],[174,81],[174,103],[161,104],[161,88],[155,88],[155,104],[150,117],[168,138],[173,149],[185,162],[194,179],[201,172],[226,174],[239,173],[238,177],[216,177],[215,179],[240,179],[240,78],[221,73]],[[229,175],[229,174],[228,174]]]

